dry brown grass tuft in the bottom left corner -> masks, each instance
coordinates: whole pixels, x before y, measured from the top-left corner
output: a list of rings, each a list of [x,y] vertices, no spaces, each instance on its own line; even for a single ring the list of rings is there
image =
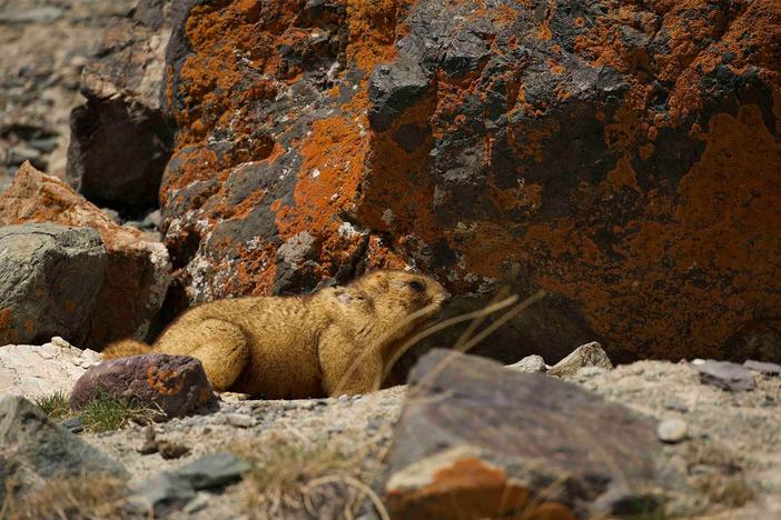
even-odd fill
[[[120,479],[83,477],[56,479],[19,499],[10,493],[0,510],[8,520],[32,519],[119,519],[125,518],[122,503],[127,492]]]

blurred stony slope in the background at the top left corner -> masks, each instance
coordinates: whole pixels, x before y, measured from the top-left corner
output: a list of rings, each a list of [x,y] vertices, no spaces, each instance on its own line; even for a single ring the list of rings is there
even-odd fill
[[[0,191],[26,160],[65,177],[81,69],[132,0],[0,1]]]

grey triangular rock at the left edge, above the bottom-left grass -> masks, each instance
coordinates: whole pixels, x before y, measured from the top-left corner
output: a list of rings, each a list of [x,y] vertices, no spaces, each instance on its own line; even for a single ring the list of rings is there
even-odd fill
[[[14,481],[18,488],[11,486],[11,491],[22,494],[51,478],[127,476],[121,463],[52,423],[21,397],[0,397],[0,498],[8,492],[4,484]]]

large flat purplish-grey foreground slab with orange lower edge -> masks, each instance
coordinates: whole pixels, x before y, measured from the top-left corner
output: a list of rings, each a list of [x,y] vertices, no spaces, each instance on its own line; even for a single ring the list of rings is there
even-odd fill
[[[662,501],[653,420],[575,384],[443,350],[409,382],[385,486],[397,518],[593,518]]]

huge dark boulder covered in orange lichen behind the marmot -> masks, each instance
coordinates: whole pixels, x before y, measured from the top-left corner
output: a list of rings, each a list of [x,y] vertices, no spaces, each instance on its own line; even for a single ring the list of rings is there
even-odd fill
[[[412,266],[553,294],[505,361],[781,359],[780,52],[773,0],[190,2],[180,302]]]

